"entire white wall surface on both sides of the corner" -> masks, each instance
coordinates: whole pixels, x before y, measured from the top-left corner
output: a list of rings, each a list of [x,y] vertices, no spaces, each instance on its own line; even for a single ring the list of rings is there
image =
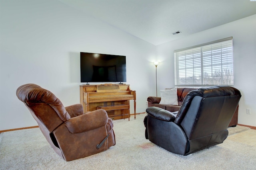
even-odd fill
[[[16,97],[22,84],[52,91],[64,106],[79,103],[80,51],[126,55],[127,84],[137,92],[140,113],[156,95],[156,51],[160,96],[174,86],[174,50],[230,36],[234,87],[242,93],[238,123],[256,126],[256,15],[156,47],[55,0],[0,1],[0,12],[0,130],[37,125]]]

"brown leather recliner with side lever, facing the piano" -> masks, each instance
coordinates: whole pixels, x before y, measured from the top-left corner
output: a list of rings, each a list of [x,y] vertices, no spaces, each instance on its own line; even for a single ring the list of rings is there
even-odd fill
[[[112,119],[105,110],[83,113],[83,106],[64,107],[52,92],[36,84],[16,91],[37,121],[46,140],[64,160],[84,158],[116,144]]]

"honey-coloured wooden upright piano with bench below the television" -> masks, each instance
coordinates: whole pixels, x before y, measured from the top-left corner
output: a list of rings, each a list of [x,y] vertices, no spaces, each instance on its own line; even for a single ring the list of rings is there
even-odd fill
[[[86,111],[104,109],[108,117],[130,120],[130,100],[134,100],[136,119],[136,91],[128,84],[80,85],[80,104]]]

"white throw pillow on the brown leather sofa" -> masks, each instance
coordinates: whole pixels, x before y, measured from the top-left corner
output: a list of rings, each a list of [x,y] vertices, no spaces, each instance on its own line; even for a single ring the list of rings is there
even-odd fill
[[[161,101],[159,104],[178,105],[177,88],[160,90]]]

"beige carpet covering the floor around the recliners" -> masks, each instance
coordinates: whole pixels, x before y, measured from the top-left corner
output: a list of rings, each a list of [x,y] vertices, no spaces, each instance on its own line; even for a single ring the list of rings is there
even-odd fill
[[[146,114],[114,121],[116,145],[92,156],[66,162],[47,143],[39,128],[0,134],[1,170],[252,170],[256,147],[228,140],[188,156],[168,152],[144,137]],[[248,130],[229,128],[234,134]]]

